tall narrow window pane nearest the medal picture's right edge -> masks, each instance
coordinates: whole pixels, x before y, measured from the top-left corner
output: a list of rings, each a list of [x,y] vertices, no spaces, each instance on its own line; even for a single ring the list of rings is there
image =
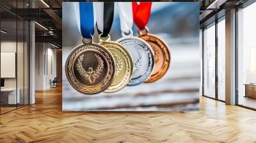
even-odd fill
[[[215,25],[204,29],[204,95],[215,98]]]

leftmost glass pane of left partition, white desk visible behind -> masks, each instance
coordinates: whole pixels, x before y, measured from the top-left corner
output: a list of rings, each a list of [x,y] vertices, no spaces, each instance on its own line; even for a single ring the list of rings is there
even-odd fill
[[[1,113],[16,109],[20,102],[17,93],[17,22],[1,21]]]

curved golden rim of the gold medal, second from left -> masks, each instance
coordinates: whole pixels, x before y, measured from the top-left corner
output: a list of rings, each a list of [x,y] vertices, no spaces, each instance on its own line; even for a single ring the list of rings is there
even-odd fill
[[[133,73],[133,60],[132,60],[131,54],[120,43],[117,43],[115,41],[102,41],[100,43],[100,45],[102,45],[102,46],[105,46],[108,44],[116,45],[116,47],[118,47],[118,49],[116,47],[113,47],[113,49],[118,50],[118,52],[120,52],[120,54],[122,54],[122,56],[124,57],[125,63],[127,63],[127,70],[125,70],[125,74],[124,74],[124,77],[122,78],[122,81],[118,82],[118,84],[116,84],[115,86],[110,85],[105,91],[103,91],[104,93],[115,93],[115,92],[123,89],[125,86],[127,86],[127,84],[129,84],[129,82],[132,78],[132,73]],[[109,50],[110,48],[106,47],[106,49]],[[109,51],[111,52],[111,50],[109,50]],[[115,59],[114,59],[114,61],[115,61]],[[124,79],[125,79],[125,82],[123,82]],[[114,77],[114,80],[115,80],[115,77]],[[113,84],[113,82],[112,82],[112,84]],[[109,89],[109,88],[111,88],[111,89]]]

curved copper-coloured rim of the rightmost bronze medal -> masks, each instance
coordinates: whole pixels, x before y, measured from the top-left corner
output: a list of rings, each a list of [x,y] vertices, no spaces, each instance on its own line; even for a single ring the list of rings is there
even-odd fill
[[[147,38],[147,36],[149,38]],[[159,43],[163,44],[163,45],[157,44],[160,47],[160,49],[162,50],[163,54],[164,54],[163,66],[161,66],[160,70],[157,71],[157,73],[155,73],[154,75],[150,75],[150,78],[145,81],[145,83],[156,82],[157,80],[159,80],[162,77],[164,77],[164,75],[168,72],[169,68],[172,66],[171,65],[172,57],[171,57],[170,47],[165,43],[165,41],[162,38],[160,38],[160,37],[158,37],[158,36],[156,36],[154,34],[146,33],[146,34],[141,34],[138,37],[141,38],[141,39],[143,39],[143,37],[147,38],[148,40],[145,40],[147,42],[151,41],[152,43],[156,43],[157,44],[157,41],[158,41]],[[150,40],[150,37],[155,38],[155,41]],[[161,47],[164,47],[165,50],[162,49]],[[163,68],[164,66],[167,66],[167,67]]]

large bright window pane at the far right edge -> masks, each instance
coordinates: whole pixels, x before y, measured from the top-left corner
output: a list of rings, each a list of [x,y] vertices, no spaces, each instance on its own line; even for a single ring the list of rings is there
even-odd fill
[[[256,3],[238,11],[238,104],[256,109]]]

